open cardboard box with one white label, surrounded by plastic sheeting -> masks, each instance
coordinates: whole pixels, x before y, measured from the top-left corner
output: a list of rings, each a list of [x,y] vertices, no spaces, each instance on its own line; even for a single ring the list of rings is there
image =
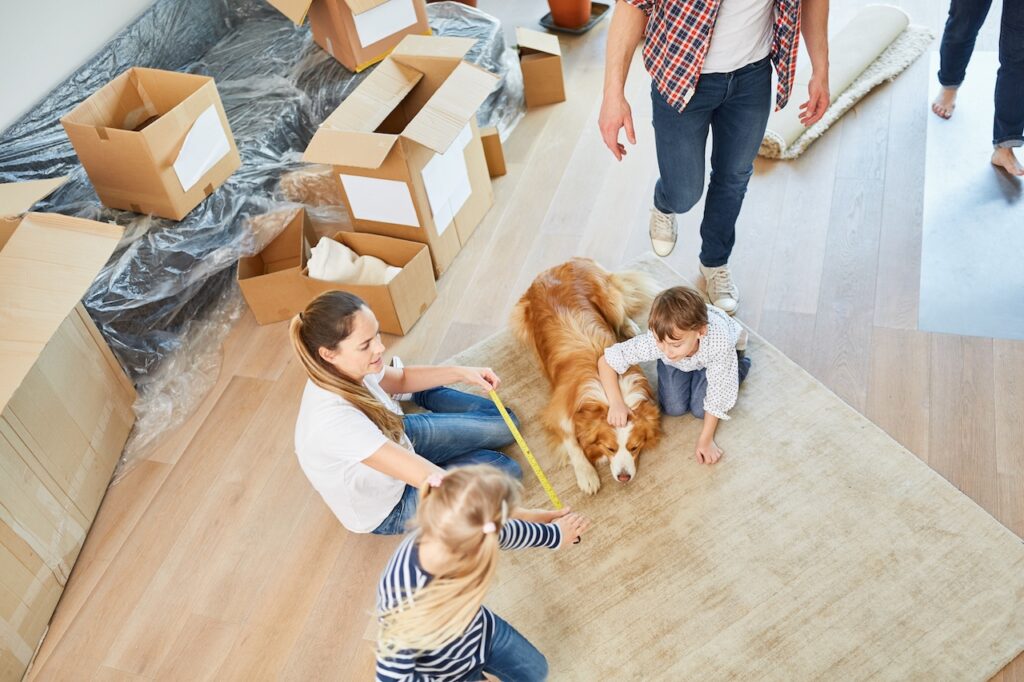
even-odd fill
[[[112,208],[181,220],[242,165],[207,76],[135,67],[60,123]]]

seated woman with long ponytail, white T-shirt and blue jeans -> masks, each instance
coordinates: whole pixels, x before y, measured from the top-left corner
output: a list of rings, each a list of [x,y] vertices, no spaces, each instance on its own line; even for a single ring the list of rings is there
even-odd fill
[[[349,530],[404,532],[420,484],[443,469],[490,464],[522,475],[497,452],[512,436],[494,403],[444,386],[496,388],[500,380],[488,368],[385,367],[377,317],[359,297],[341,291],[315,298],[290,332],[308,377],[295,452]],[[399,393],[411,393],[427,412],[403,415],[392,398]]]

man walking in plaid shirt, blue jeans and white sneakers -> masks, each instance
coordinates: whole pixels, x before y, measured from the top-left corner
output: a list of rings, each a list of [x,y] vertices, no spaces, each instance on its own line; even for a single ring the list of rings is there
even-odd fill
[[[828,108],[827,26],[828,0],[618,0],[615,7],[608,30],[601,136],[620,161],[626,155],[620,129],[636,144],[625,89],[630,61],[643,39],[660,172],[651,208],[651,246],[668,256],[676,245],[676,214],[700,200],[711,130],[700,272],[711,302],[729,314],[739,305],[729,255],[771,112],[772,65],[778,74],[775,103],[781,109],[793,89],[803,33],[812,76],[800,118],[805,126],[820,119]]]

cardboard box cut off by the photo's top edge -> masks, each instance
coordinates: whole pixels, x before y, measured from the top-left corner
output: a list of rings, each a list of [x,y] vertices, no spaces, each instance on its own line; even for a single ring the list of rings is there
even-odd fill
[[[423,0],[268,0],[349,71],[377,63],[409,35],[430,35]]]

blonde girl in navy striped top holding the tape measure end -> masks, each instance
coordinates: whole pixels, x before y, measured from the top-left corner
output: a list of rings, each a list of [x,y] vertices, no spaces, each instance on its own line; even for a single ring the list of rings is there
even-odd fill
[[[377,591],[377,679],[544,680],[544,654],[482,606],[498,550],[572,544],[590,525],[579,514],[517,510],[519,483],[489,466],[431,476],[417,529],[398,546]],[[516,518],[513,518],[516,517]]]

